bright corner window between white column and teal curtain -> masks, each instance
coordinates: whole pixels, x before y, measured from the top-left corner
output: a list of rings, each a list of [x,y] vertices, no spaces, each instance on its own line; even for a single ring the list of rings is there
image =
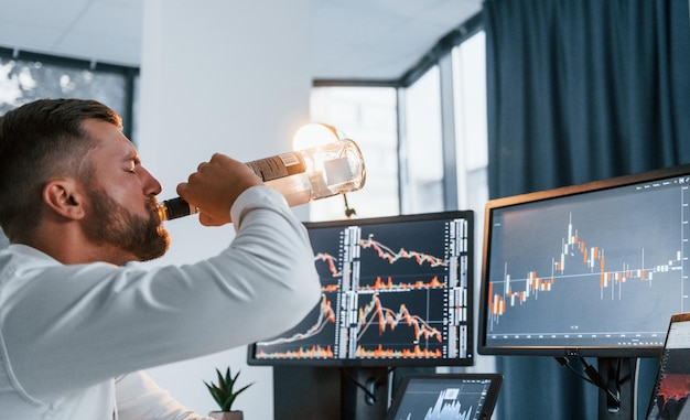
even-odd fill
[[[483,226],[485,36],[478,17],[467,26],[446,54],[411,69],[398,87],[313,89],[312,120],[336,127],[363,149],[367,182],[347,197],[357,216],[473,209],[475,226]],[[312,220],[343,218],[344,203],[316,202],[310,212]]]

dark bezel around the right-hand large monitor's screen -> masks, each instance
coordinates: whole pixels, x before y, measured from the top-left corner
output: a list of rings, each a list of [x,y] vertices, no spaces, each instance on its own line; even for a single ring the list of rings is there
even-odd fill
[[[654,182],[668,177],[681,175],[690,176],[690,164],[682,164],[671,168],[651,170],[647,172],[611,177],[601,181],[563,186],[552,190],[519,194],[514,196],[489,200],[484,211],[484,231],[482,249],[482,267],[479,281],[479,302],[477,306],[477,353],[481,355],[517,355],[517,356],[554,356],[554,357],[658,357],[661,354],[662,345],[629,345],[629,346],[547,346],[535,344],[525,345],[490,345],[487,344],[488,324],[488,266],[490,252],[490,237],[493,214],[496,209],[508,208],[527,203],[537,203],[552,198],[575,196],[595,191],[605,191],[627,185]]]

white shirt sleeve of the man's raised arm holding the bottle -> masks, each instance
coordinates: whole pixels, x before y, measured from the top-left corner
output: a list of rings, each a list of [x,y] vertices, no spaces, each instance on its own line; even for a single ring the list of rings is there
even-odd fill
[[[304,226],[266,186],[242,193],[231,217],[228,248],[193,265],[143,270],[34,258],[6,267],[0,333],[15,383],[51,398],[297,325],[321,294]]]

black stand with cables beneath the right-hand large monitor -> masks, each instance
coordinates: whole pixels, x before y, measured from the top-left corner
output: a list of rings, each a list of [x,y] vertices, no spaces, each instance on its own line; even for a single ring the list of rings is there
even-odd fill
[[[599,420],[637,419],[637,364],[636,357],[599,357],[599,375],[603,385],[618,401],[605,390],[599,391]]]

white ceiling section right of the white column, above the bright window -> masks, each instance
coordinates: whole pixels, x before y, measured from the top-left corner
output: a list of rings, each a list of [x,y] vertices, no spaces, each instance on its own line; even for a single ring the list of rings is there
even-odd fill
[[[397,79],[482,0],[313,0],[314,78]]]

